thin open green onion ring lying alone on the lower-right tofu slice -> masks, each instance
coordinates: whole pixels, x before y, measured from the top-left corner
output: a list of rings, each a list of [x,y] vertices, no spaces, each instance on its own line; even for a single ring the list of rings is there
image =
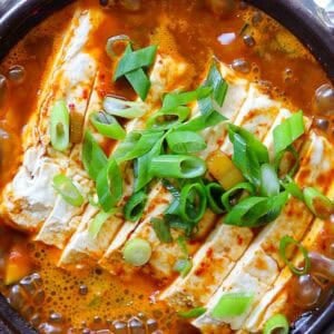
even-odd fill
[[[288,246],[297,246],[298,249],[301,250],[301,253],[303,254],[305,264],[303,268],[298,268],[296,267],[288,258],[287,258],[287,254],[286,254],[286,248]],[[284,261],[284,263],[288,266],[288,268],[297,276],[302,276],[305,275],[310,272],[311,268],[311,259],[308,257],[308,252],[307,249],[299,244],[297,240],[295,240],[294,238],[292,238],[291,236],[284,236],[281,242],[279,242],[279,255],[282,257],[282,259]]]

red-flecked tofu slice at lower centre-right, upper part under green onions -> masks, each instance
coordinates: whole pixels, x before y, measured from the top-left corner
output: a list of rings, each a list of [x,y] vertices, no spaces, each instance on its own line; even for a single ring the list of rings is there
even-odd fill
[[[263,141],[269,154],[274,150],[273,130],[289,116],[291,112],[282,108],[265,136]],[[229,144],[224,144],[222,148],[226,145]],[[249,228],[217,224],[195,254],[189,274],[184,278],[179,276],[163,292],[160,298],[181,310],[205,305],[244,254],[252,239],[253,232]]]

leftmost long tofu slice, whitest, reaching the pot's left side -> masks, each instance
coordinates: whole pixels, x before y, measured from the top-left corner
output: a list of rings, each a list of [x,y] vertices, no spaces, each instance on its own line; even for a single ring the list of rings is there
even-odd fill
[[[71,148],[58,153],[50,146],[49,118],[55,101],[65,99],[70,112],[82,118],[96,75],[96,61],[85,51],[98,12],[78,11],[60,51],[43,81],[41,99],[23,135],[22,165],[2,193],[0,215],[19,229],[37,232],[50,214],[56,191],[50,186],[55,175],[65,173]]]

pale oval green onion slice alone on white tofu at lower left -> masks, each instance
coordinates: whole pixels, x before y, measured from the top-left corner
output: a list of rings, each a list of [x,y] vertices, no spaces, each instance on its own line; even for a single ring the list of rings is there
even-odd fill
[[[77,207],[84,204],[84,197],[67,176],[62,174],[56,175],[53,177],[53,188],[68,204]]]

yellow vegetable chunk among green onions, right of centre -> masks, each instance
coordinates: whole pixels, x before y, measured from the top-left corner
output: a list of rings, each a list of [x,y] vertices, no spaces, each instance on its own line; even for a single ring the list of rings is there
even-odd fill
[[[217,179],[225,190],[244,181],[240,170],[237,169],[232,159],[220,150],[216,150],[209,155],[207,158],[207,167],[213,177]]]

